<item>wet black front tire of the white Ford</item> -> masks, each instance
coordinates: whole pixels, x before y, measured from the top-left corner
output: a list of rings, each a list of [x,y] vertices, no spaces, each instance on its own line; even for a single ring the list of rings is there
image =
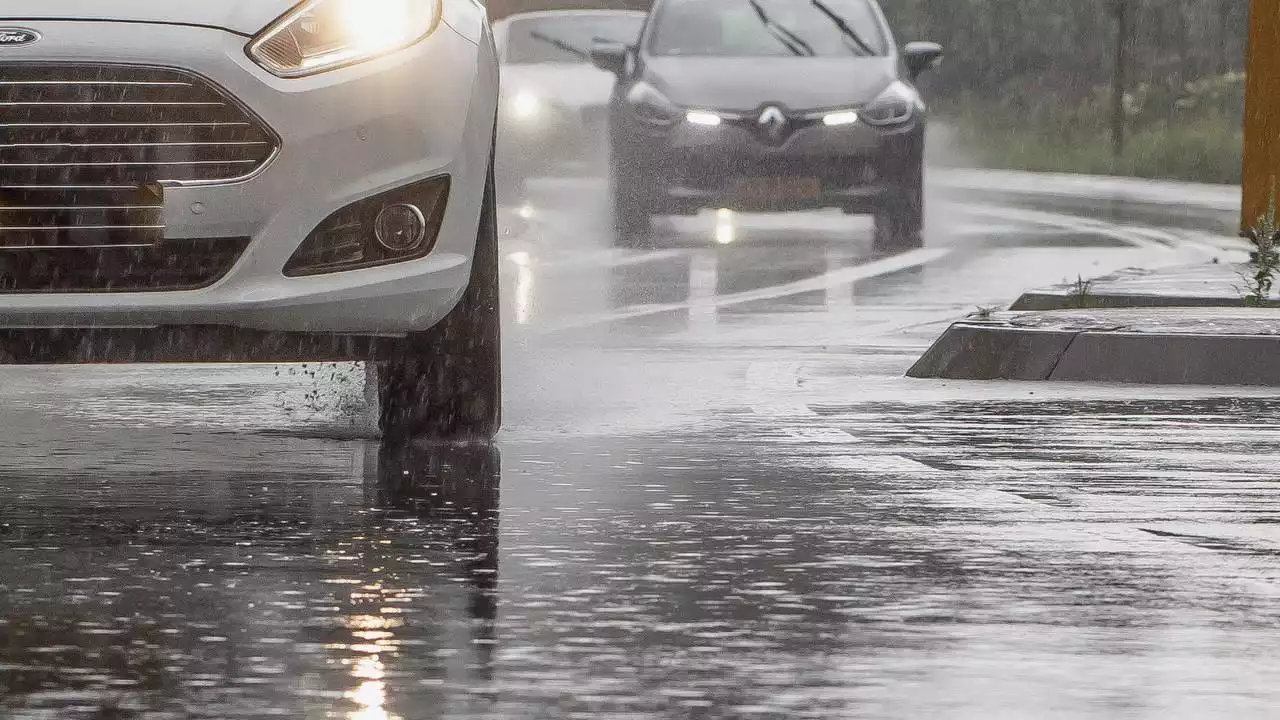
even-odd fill
[[[458,305],[404,338],[378,366],[388,441],[486,441],[502,427],[502,323],[493,168],[485,184],[471,282]]]

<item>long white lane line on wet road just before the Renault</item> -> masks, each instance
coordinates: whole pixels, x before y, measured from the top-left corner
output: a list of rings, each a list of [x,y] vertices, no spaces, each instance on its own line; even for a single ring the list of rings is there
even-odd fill
[[[824,291],[832,286],[849,284],[858,281],[864,281],[881,275],[888,275],[901,270],[918,268],[920,265],[946,258],[948,254],[951,254],[951,250],[945,247],[914,250],[911,252],[904,252],[901,255],[895,255],[892,258],[873,260],[870,263],[867,263],[865,265],[856,265],[854,268],[844,268],[841,270],[829,272],[814,278],[790,282],[780,286],[749,290],[744,292],[735,292],[730,295],[721,295],[714,299],[713,305],[716,307],[730,307],[733,305],[742,305],[746,302],[776,300],[778,297],[787,297],[791,295]],[[634,320],[637,318],[660,315],[663,313],[687,310],[689,307],[690,307],[689,301],[622,307],[612,313],[586,315],[582,318],[567,320],[564,323],[554,324],[544,329],[544,333],[588,328],[591,325],[616,323],[620,320]]]

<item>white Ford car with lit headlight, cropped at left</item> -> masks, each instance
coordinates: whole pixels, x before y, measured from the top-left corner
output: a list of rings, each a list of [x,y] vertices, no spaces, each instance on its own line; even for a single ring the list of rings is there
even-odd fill
[[[497,109],[474,0],[0,3],[0,361],[364,359],[492,436]]]

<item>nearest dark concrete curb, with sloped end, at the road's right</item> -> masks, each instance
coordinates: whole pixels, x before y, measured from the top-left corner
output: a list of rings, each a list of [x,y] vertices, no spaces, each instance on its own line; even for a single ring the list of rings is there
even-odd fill
[[[956,323],[908,377],[1280,387],[1280,336]]]

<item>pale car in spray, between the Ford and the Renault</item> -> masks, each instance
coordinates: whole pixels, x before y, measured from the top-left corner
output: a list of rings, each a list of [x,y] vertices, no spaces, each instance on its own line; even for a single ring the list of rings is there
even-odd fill
[[[591,64],[591,46],[632,44],[644,20],[635,10],[548,10],[494,23],[499,195],[518,199],[529,177],[603,173],[614,76]]]

